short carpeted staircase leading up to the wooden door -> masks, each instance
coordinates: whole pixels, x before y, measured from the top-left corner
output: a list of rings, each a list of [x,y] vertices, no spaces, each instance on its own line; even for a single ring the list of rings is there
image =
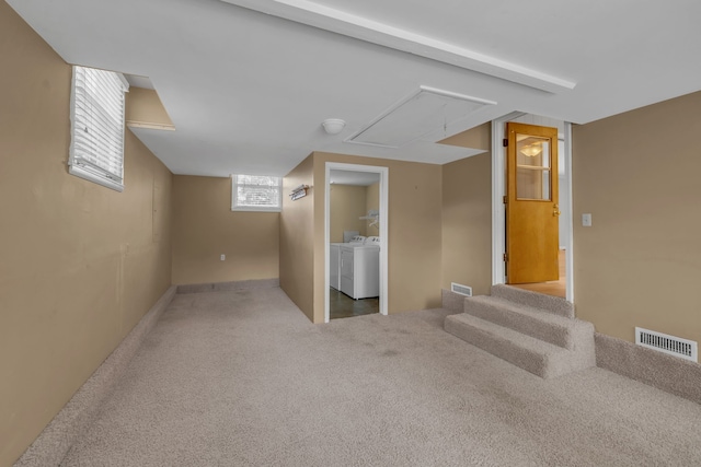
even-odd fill
[[[543,378],[596,366],[594,325],[574,318],[555,296],[508,285],[466,297],[464,313],[446,317],[446,331]]]

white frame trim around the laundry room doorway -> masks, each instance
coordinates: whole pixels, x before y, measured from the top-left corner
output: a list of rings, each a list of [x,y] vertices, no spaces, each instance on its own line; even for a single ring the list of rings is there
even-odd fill
[[[326,162],[324,175],[324,323],[331,319],[331,171],[369,172],[380,175],[380,314],[388,312],[389,270],[389,167]]]

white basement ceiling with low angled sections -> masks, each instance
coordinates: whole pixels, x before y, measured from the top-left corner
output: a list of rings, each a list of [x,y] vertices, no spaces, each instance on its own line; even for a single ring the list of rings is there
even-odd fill
[[[134,131],[176,174],[441,164],[476,151],[432,141],[514,110],[584,124],[701,89],[698,0],[7,1],[67,62],[150,78],[176,130]],[[421,85],[496,104],[400,149],[344,142]]]

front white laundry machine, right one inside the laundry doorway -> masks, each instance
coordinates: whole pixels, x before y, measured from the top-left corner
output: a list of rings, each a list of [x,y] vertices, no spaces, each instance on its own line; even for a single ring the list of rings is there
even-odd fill
[[[352,299],[380,295],[380,238],[370,236],[363,245],[342,245],[341,292]]]

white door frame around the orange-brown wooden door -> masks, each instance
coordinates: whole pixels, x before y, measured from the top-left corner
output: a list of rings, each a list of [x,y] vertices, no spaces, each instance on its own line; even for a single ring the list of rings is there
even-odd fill
[[[506,148],[502,141],[505,138],[507,121],[512,121],[525,112],[513,112],[492,120],[492,284],[506,283],[504,268],[504,252],[506,248]],[[567,180],[567,209],[564,221],[570,226],[568,235],[561,242],[565,246],[565,289],[566,300],[574,303],[574,254],[573,254],[573,212],[572,212],[572,124],[564,122],[564,162],[565,179]],[[562,191],[561,191],[562,195]],[[562,198],[562,196],[561,196]],[[560,200],[559,200],[560,201]],[[562,203],[560,205],[562,206]]]

